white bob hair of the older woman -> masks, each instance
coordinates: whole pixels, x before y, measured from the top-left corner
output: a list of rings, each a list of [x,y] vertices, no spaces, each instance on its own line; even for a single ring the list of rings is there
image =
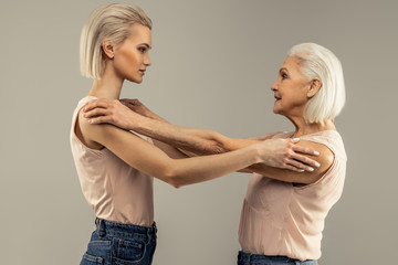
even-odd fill
[[[323,123],[334,118],[345,104],[345,85],[339,60],[329,50],[315,43],[293,46],[287,56],[298,59],[301,72],[312,81],[320,78],[322,86],[304,109],[306,123]]]

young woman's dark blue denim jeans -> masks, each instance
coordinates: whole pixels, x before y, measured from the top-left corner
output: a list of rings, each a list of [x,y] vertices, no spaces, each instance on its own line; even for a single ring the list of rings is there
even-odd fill
[[[156,248],[156,224],[145,227],[101,219],[81,265],[150,265]]]

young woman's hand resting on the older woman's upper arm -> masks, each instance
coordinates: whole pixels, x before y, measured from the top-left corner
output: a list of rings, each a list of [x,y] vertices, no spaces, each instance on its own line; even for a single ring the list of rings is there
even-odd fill
[[[314,171],[313,167],[321,165],[307,158],[306,155],[318,156],[320,153],[311,148],[295,145],[300,139],[269,139],[262,141],[261,158],[262,162],[274,168],[290,169],[296,172]]]

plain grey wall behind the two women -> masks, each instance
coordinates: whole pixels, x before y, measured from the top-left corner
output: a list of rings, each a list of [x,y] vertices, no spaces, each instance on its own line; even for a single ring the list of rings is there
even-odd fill
[[[1,264],[78,264],[94,229],[69,131],[91,87],[78,40],[94,0],[0,6]],[[316,42],[344,67],[337,127],[346,186],[326,220],[322,265],[392,264],[397,213],[397,1],[137,0],[154,21],[153,66],[125,84],[168,120],[249,137],[292,130],[272,114],[270,85],[285,52]],[[176,190],[155,181],[155,265],[235,264],[249,174]]]

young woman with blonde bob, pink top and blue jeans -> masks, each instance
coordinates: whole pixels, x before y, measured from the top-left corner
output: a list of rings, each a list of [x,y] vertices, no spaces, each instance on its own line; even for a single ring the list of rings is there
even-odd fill
[[[313,153],[294,140],[269,140],[237,151],[187,158],[178,149],[109,124],[95,125],[86,103],[118,102],[125,80],[142,83],[150,65],[151,21],[137,7],[97,8],[81,35],[81,72],[93,78],[75,108],[71,147],[85,199],[96,214],[96,230],[81,264],[151,264],[156,247],[153,177],[175,187],[211,180],[253,163],[311,170]],[[186,158],[186,159],[182,159]],[[302,161],[302,162],[300,162]],[[310,166],[308,166],[310,165]]]

